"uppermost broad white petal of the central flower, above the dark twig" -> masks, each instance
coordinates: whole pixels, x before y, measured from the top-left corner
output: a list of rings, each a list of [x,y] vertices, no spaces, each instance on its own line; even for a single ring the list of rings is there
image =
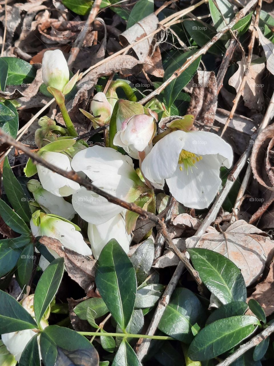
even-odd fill
[[[129,156],[123,155],[111,147],[92,146],[79,151],[71,162],[76,171],[83,171],[88,178],[96,180],[101,176],[112,174],[129,176],[134,172],[133,162]]]

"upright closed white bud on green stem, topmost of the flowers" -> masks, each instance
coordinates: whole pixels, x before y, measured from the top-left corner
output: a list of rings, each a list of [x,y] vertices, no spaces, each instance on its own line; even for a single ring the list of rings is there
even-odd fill
[[[69,81],[69,68],[66,59],[60,51],[46,51],[42,60],[42,78],[46,86],[52,86],[61,91]]]

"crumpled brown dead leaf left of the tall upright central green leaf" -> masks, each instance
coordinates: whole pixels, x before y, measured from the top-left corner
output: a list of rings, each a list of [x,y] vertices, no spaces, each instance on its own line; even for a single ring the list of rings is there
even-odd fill
[[[59,240],[49,238],[48,236],[42,236],[39,242],[56,251],[60,257],[64,258],[69,277],[88,293],[94,282],[96,260],[80,255],[72,250],[63,249]]]

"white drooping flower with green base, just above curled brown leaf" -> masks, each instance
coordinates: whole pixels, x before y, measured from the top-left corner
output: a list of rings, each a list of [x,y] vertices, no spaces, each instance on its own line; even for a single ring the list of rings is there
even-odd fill
[[[75,227],[56,217],[47,215],[41,218],[41,233],[54,239],[60,240],[62,245],[81,255],[91,255],[91,249],[84,241],[82,234]]]

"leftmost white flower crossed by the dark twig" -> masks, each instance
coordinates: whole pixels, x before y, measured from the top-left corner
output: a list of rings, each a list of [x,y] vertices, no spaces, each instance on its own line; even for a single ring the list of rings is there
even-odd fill
[[[65,154],[43,151],[41,156],[48,163],[56,165],[58,168],[64,169],[67,172],[72,171],[69,157]],[[52,172],[42,165],[37,165],[37,172],[43,188],[58,197],[69,196],[80,189],[79,183]]]

